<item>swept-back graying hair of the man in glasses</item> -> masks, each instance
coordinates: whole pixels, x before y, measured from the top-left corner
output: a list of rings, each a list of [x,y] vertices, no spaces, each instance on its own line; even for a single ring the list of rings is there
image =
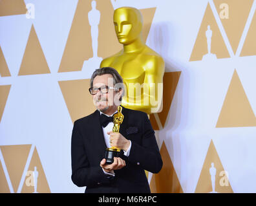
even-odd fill
[[[118,73],[118,71],[116,71],[112,67],[103,67],[103,68],[95,70],[94,73],[92,73],[90,87],[92,88],[93,80],[96,76],[101,76],[101,75],[105,75],[105,74],[111,74],[112,75],[114,87],[116,86],[116,84],[118,85],[118,87],[116,87],[116,89],[118,89],[118,90],[120,88],[123,89],[123,93],[122,93],[122,97],[123,97],[124,91],[125,91],[124,86],[123,86],[123,79],[120,76],[120,74]],[[120,100],[122,100],[122,97],[120,98]]]

